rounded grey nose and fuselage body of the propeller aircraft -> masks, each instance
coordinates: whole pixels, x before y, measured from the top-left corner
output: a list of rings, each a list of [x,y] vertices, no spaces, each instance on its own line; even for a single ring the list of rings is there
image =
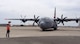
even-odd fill
[[[40,26],[42,30],[46,30],[49,28],[57,29],[57,23],[54,21],[54,19],[48,17],[41,18],[38,22],[38,26]]]

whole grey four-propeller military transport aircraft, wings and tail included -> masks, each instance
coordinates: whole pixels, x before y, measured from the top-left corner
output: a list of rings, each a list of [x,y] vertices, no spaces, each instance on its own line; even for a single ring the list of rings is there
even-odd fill
[[[34,15],[34,19],[6,19],[6,20],[21,20],[24,23],[26,21],[34,21],[33,25],[37,23],[38,26],[42,29],[42,31],[46,31],[47,29],[49,30],[49,28],[54,28],[53,30],[57,30],[57,24],[59,23],[62,23],[64,25],[64,22],[76,21],[76,23],[78,23],[78,21],[80,21],[80,19],[78,18],[77,19],[68,19],[67,17],[63,18],[63,15],[61,15],[61,18],[56,18],[56,8],[54,10],[54,19],[48,17],[39,19],[39,16],[36,18]]]

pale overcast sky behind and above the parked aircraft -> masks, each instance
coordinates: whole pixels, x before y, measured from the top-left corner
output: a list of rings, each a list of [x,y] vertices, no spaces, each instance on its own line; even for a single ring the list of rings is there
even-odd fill
[[[6,18],[33,18],[34,14],[41,17],[54,17],[56,7],[57,17],[79,18],[80,0],[0,0],[0,24],[7,23]],[[21,21],[11,21],[12,24],[22,24]],[[26,22],[25,24],[32,24]],[[74,25],[73,25],[74,24]],[[59,24],[62,25],[62,24]],[[65,22],[65,26],[77,26],[76,22]]]

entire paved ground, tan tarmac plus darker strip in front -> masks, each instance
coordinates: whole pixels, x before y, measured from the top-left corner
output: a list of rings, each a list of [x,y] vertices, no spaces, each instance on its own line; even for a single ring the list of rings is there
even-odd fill
[[[0,44],[80,44],[80,28],[58,27],[56,31],[42,31],[39,27],[0,27]]]

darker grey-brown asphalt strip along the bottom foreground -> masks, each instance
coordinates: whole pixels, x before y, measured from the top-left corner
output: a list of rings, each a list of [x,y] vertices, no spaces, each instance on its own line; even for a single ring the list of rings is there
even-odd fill
[[[80,44],[79,36],[0,38],[0,44]]]

